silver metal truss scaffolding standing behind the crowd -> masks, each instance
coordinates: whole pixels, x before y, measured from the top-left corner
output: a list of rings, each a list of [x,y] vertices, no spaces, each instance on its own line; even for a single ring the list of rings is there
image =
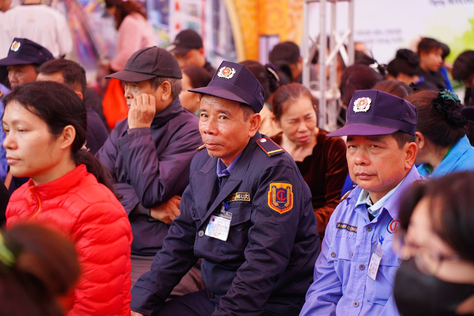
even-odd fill
[[[337,53],[341,54],[346,66],[354,63],[354,0],[304,0],[303,1],[303,84],[319,99],[319,127],[332,131],[337,129],[338,104]],[[349,24],[342,36],[337,34],[337,2],[349,3]],[[319,36],[309,36],[309,6],[319,3]],[[330,6],[330,29],[327,27],[326,6]],[[329,45],[327,43],[329,39]],[[347,40],[347,50],[344,42]],[[328,54],[326,52],[328,47]],[[319,73],[316,82],[310,82],[309,68],[316,51],[319,50]],[[324,66],[322,66],[324,65]],[[329,73],[329,77],[328,77]],[[345,118],[344,118],[345,120]]]

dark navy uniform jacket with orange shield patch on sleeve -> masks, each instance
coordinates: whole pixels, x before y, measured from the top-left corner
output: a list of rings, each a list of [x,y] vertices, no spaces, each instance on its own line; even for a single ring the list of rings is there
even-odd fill
[[[204,258],[201,271],[209,299],[217,304],[215,316],[261,315],[269,300],[303,303],[320,250],[311,193],[291,156],[284,151],[268,156],[257,144],[260,137],[252,137],[220,192],[217,158],[206,150],[194,156],[181,215],[151,271],[132,288],[132,310],[144,315],[158,310],[198,258]],[[281,212],[271,207],[272,188],[280,185],[286,193],[278,196],[287,202]],[[232,213],[227,241],[204,234],[224,201]]]

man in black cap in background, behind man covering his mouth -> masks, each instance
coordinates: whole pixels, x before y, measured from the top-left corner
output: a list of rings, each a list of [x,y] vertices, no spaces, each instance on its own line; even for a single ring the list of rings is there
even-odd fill
[[[211,63],[206,61],[202,39],[196,31],[185,29],[178,33],[168,50],[174,54],[181,68],[197,66],[206,69],[211,77],[215,74]]]

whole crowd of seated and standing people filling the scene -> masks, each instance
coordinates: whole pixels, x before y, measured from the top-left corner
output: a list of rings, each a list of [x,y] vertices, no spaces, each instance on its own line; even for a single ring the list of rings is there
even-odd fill
[[[211,65],[105,0],[91,89],[59,11],[0,9],[0,315],[474,315],[473,50],[355,43],[325,130],[296,43]]]

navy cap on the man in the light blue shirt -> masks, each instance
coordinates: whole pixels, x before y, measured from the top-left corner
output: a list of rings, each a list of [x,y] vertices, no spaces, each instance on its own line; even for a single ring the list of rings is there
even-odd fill
[[[328,136],[388,135],[401,130],[415,135],[416,108],[406,100],[378,90],[356,90],[347,109],[346,126]]]

